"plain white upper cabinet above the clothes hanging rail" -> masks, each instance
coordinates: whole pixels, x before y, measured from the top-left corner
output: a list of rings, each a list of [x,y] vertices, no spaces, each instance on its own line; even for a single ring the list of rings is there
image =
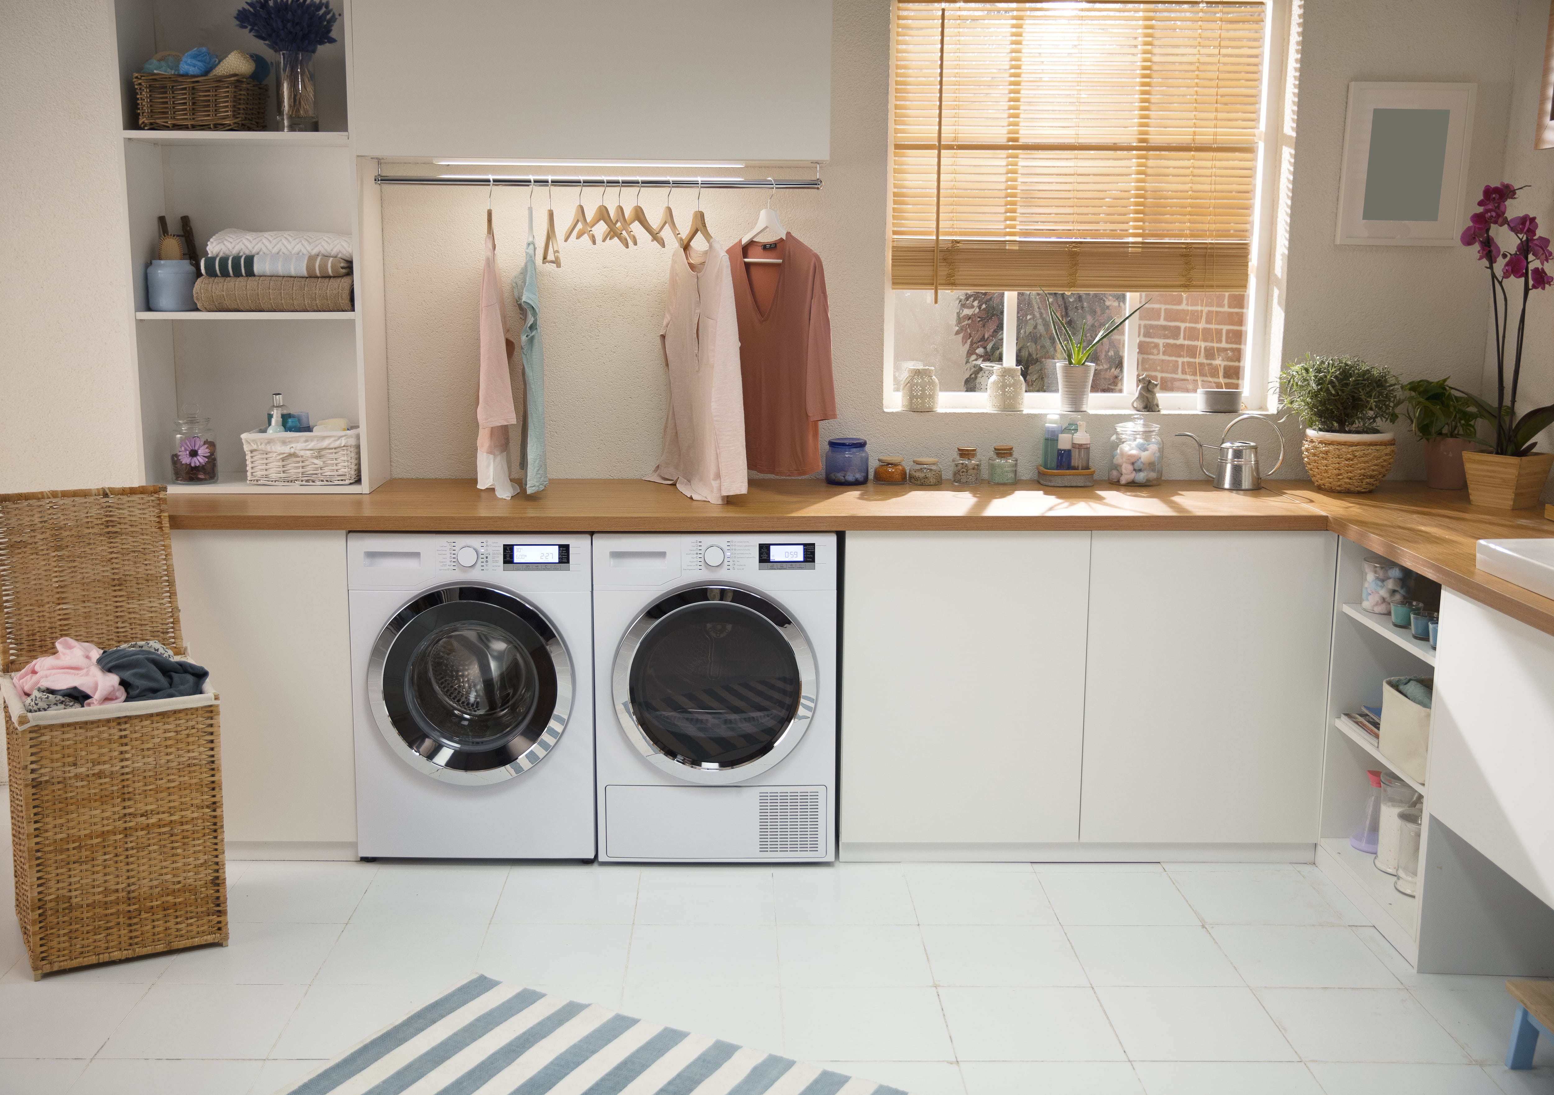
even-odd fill
[[[828,160],[831,0],[354,0],[359,155]]]

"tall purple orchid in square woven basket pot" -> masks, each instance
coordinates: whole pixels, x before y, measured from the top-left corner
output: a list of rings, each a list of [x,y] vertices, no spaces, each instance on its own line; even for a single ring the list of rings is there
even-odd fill
[[[1546,270],[1548,236],[1538,235],[1538,219],[1523,213],[1507,216],[1506,202],[1515,200],[1524,186],[1500,183],[1486,186],[1478,199],[1479,211],[1462,230],[1462,245],[1478,247],[1478,258],[1489,270],[1489,300],[1495,309],[1495,402],[1461,391],[1479,413],[1495,424],[1493,452],[1464,452],[1469,500],[1476,506],[1520,509],[1537,505],[1543,483],[1554,466],[1554,454],[1537,452],[1537,436],[1554,424],[1554,405],[1535,407],[1517,418],[1517,390],[1521,387],[1521,339],[1528,323],[1528,297],[1534,289],[1548,289],[1554,276]],[[1495,228],[1506,228],[1512,244],[1501,250]],[[1500,272],[1495,262],[1504,259]],[[1510,391],[1506,391],[1506,340],[1510,334],[1510,297],[1506,281],[1521,283],[1521,314],[1517,317],[1517,348],[1510,365]],[[1506,396],[1510,396],[1509,399]]]

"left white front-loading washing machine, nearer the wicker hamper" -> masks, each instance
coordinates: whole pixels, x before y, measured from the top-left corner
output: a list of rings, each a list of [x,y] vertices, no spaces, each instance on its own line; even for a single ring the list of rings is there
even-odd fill
[[[357,854],[592,859],[589,537],[345,542]]]

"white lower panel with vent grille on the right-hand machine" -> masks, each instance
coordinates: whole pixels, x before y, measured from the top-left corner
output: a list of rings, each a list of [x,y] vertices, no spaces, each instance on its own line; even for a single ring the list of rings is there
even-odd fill
[[[600,860],[828,862],[824,784],[605,787]]]

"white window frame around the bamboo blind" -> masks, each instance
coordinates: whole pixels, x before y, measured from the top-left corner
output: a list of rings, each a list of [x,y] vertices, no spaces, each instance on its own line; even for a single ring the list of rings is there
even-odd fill
[[[1284,343],[1284,273],[1288,256],[1290,176],[1294,157],[1294,106],[1299,76],[1302,0],[1263,0],[1263,78],[1262,101],[1257,124],[1257,177],[1253,197],[1251,264],[1246,275],[1245,339],[1242,343],[1242,398],[1248,410],[1273,410]],[[890,103],[895,101],[895,17],[897,3],[890,3]],[[886,132],[894,132],[895,120],[887,116]],[[886,171],[886,224],[890,217],[890,174]],[[901,393],[894,390],[895,376],[895,294],[890,284],[889,230],[886,231],[886,306],[884,306],[884,362],[881,365],[884,410],[901,410]],[[948,290],[954,292],[954,290]],[[1214,290],[1221,292],[1221,290]],[[1013,349],[1013,292],[1004,297],[1004,359]],[[1148,294],[1128,294],[1128,311]],[[1120,335],[1124,343],[1122,391],[1094,391],[1089,396],[1091,410],[1124,412],[1133,408],[1138,390],[1138,343],[1139,318],[1133,317]],[[939,362],[934,362],[937,367]],[[1197,410],[1195,391],[1161,391],[1161,410]],[[948,412],[988,412],[987,396],[981,391],[940,390],[939,408]],[[1027,391],[1026,413],[1047,415],[1058,410],[1057,393]]]

